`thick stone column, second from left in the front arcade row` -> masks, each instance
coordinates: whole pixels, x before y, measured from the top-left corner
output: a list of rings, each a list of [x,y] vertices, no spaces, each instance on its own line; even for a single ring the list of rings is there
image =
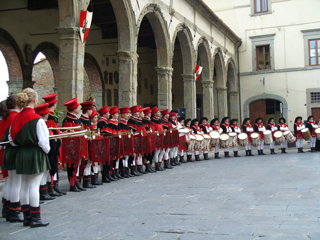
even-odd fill
[[[137,66],[139,55],[118,51],[119,57],[119,108],[137,104]]]

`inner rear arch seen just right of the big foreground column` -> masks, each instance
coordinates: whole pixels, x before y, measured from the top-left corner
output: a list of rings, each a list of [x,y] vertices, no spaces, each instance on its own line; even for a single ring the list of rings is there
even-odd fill
[[[104,105],[104,82],[102,72],[97,60],[89,53],[85,54],[84,69],[89,78],[91,95],[96,97],[96,105]]]

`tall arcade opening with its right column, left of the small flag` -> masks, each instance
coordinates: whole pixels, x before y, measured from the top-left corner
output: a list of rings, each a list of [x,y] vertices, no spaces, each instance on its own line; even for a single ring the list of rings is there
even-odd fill
[[[172,53],[172,108],[184,108],[179,115],[195,117],[196,93],[194,81],[194,49],[192,34],[184,24],[179,24],[173,37]]]

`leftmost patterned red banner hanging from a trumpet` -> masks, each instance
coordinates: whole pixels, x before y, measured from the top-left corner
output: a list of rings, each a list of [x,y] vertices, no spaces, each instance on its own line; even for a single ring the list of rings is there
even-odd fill
[[[78,163],[81,159],[81,137],[65,138],[61,143],[62,164]]]

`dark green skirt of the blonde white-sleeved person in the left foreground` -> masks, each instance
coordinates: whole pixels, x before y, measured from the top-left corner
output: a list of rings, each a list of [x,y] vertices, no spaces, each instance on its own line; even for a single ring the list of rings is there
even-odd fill
[[[17,174],[32,175],[50,170],[48,155],[39,146],[19,147],[16,155]]]

